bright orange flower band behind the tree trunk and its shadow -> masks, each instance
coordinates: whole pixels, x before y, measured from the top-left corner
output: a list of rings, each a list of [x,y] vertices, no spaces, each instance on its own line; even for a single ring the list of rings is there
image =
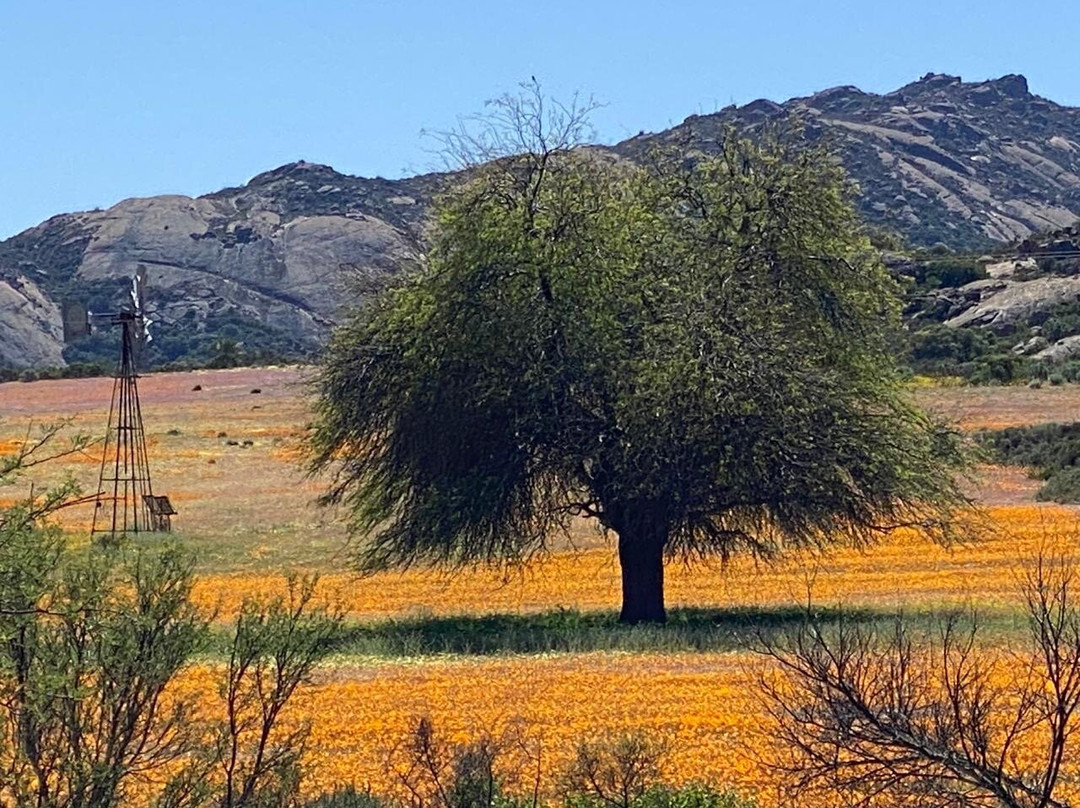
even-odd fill
[[[1043,547],[1080,540],[1074,509],[1010,506],[988,512],[990,527],[975,543],[941,547],[899,534],[868,550],[838,549],[778,564],[735,560],[726,567],[673,563],[666,575],[674,607],[770,607],[806,603],[915,606],[977,603],[1012,608],[1017,574]],[[559,552],[526,569],[502,573],[431,570],[384,573],[361,578],[323,576],[321,593],[356,619],[415,615],[523,614],[573,608],[613,609],[619,603],[619,568],[613,551],[592,548]],[[249,596],[284,592],[278,575],[208,575],[195,601],[231,614]]]

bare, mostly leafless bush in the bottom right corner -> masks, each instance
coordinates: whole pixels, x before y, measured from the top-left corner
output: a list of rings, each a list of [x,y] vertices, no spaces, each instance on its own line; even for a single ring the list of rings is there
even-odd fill
[[[1023,581],[1027,643],[984,647],[977,617],[922,635],[812,621],[762,639],[771,764],[799,803],[1065,808],[1080,704],[1076,570],[1041,555]]]

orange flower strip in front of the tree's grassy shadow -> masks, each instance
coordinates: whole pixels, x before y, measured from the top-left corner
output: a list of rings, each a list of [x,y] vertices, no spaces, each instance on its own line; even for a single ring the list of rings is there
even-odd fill
[[[576,654],[363,663],[338,660],[292,705],[308,719],[306,790],[346,784],[390,791],[389,759],[421,715],[457,741],[521,724],[540,750],[543,785],[579,741],[644,729],[670,744],[673,782],[754,793],[762,772],[753,660],[740,654]],[[217,671],[192,669],[180,692],[214,692]]]

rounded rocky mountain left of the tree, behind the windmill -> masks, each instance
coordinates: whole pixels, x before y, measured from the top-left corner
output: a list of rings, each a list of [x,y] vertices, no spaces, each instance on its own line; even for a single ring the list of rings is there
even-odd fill
[[[127,199],[54,216],[0,242],[0,365],[111,355],[107,335],[65,351],[59,304],[111,310],[139,266],[157,326],[151,361],[221,337],[278,354],[314,350],[352,284],[420,259],[427,204],[443,181],[364,179],[298,162],[198,199]]]

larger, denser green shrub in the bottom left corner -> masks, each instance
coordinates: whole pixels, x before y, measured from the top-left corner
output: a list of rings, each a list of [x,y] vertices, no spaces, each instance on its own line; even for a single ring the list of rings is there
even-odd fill
[[[190,563],[170,550],[65,552],[28,527],[0,550],[0,802],[120,805],[147,770],[183,760],[193,704],[164,701],[200,647]]]

